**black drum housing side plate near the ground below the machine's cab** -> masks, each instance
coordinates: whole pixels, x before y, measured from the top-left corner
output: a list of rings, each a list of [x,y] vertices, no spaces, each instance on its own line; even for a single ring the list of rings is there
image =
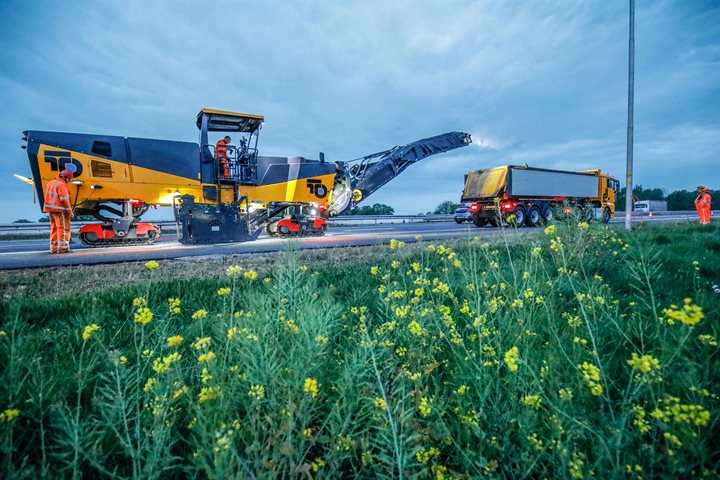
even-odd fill
[[[262,228],[254,226],[251,215],[241,212],[239,204],[195,203],[192,195],[178,197],[174,209],[178,241],[207,244],[256,240]]]

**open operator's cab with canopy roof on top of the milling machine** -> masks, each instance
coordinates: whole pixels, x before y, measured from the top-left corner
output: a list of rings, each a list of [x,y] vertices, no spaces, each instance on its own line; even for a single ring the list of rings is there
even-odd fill
[[[264,117],[246,113],[203,109],[198,113],[203,182],[257,182],[258,139]],[[224,132],[231,141],[221,151],[209,141],[208,132]]]

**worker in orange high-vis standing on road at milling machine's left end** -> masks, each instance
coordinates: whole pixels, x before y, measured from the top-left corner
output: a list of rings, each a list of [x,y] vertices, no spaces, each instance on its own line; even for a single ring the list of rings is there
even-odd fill
[[[73,211],[67,183],[73,172],[63,170],[58,178],[50,180],[45,187],[43,212],[50,216],[50,253],[70,251],[70,219]]]

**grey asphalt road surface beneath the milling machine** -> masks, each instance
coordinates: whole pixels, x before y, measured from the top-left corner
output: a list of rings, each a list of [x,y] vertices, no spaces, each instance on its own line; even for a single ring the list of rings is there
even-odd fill
[[[663,216],[653,222],[686,222],[688,217]],[[613,223],[622,222],[622,218],[613,219]],[[508,232],[514,230],[508,229]],[[531,232],[533,229],[522,229]],[[265,236],[254,242],[221,243],[213,245],[181,245],[176,235],[165,234],[152,245],[90,248],[73,239],[72,251],[62,255],[52,255],[48,251],[47,239],[0,241],[0,270],[19,268],[40,268],[67,265],[95,265],[147,260],[166,260],[182,257],[206,255],[238,255],[248,253],[268,253],[287,249],[290,245],[299,249],[319,249],[336,247],[360,247],[389,243],[395,238],[406,242],[415,241],[416,236],[423,240],[443,240],[448,238],[498,235],[499,228],[475,228],[470,224],[453,223],[398,223],[354,227],[332,227],[323,237],[307,237],[294,240]]]

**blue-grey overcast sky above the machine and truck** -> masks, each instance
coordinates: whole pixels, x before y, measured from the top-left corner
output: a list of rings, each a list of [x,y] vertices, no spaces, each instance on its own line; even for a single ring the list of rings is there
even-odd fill
[[[396,213],[508,163],[624,184],[627,54],[625,0],[0,0],[0,223],[41,216],[12,177],[30,176],[23,130],[197,141],[203,107],[265,115],[265,155],[471,133],[369,197]],[[635,165],[646,187],[720,188],[720,3],[637,1]]]

